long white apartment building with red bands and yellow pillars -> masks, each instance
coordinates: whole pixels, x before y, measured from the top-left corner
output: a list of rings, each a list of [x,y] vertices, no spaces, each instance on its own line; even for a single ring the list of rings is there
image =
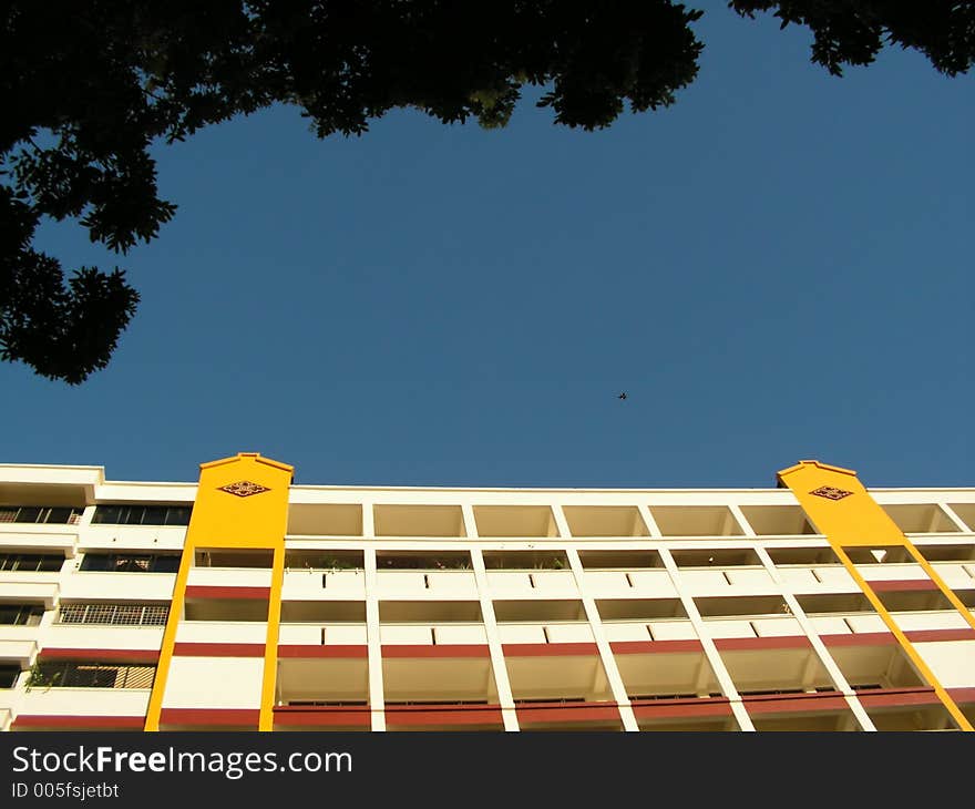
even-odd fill
[[[972,730],[975,488],[0,465],[0,729]]]

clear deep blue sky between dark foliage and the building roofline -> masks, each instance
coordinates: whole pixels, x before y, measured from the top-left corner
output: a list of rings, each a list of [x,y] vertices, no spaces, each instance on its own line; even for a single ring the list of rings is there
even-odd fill
[[[690,3],[695,6],[696,3]],[[697,81],[608,130],[403,111],[318,141],[275,109],[161,147],[179,205],[115,257],[143,303],[80,387],[0,363],[0,461],[195,481],[975,485],[975,74],[704,3]],[[628,398],[617,399],[620,391]]]

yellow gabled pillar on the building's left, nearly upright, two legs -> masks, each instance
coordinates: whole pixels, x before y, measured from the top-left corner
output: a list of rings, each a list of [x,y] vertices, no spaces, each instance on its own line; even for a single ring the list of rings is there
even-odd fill
[[[273,729],[288,489],[292,475],[294,469],[288,464],[261,458],[257,452],[240,452],[234,458],[201,464],[199,487],[186,530],[183,557],[176,574],[170,617],[163,634],[158,667],[146,711],[146,730],[160,729],[176,628],[183,615],[186,582],[197,547],[274,552],[258,726],[260,730]]]

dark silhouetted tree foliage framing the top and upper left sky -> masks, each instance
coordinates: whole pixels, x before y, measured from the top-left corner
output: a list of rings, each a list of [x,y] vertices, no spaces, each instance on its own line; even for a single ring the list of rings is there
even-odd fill
[[[973,60],[973,2],[730,3],[815,34],[813,61],[872,61],[884,40],[945,73]],[[319,137],[391,109],[504,126],[526,85],[556,123],[602,129],[694,81],[701,12],[670,0],[0,0],[0,359],[79,383],[104,368],[137,293],[115,268],[34,250],[76,219],[126,253],[175,205],[150,149],[275,103]]]

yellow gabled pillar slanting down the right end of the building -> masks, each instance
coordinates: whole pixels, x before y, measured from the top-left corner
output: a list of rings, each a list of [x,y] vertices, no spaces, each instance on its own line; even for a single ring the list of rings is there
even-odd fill
[[[812,521],[817,531],[824,534],[843,566],[853,577],[880,617],[893,633],[897,643],[914,663],[921,675],[934,687],[938,699],[948,709],[962,730],[972,730],[972,725],[951,698],[947,690],[938,683],[931,667],[914,648],[907,636],[897,626],[893,616],[884,607],[883,602],[866,583],[845,547],[879,547],[899,545],[921,564],[931,580],[952,602],[965,619],[975,627],[975,618],[965,608],[961,600],[952,592],[944,581],[934,572],[911,541],[897,528],[880,504],[870,495],[856,477],[856,472],[841,467],[831,467],[819,461],[800,461],[794,467],[784,469],[778,474],[779,481],[792,490],[799,504]]]

